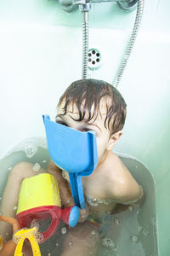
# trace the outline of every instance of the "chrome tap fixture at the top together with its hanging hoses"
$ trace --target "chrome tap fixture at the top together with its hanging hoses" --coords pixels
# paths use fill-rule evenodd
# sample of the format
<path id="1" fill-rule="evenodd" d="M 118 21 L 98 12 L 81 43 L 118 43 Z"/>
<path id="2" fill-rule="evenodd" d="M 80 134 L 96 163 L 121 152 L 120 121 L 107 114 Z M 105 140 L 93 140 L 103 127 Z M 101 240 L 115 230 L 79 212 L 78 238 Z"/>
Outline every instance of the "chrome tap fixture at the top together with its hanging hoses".
<path id="1" fill-rule="evenodd" d="M 82 79 L 88 78 L 88 15 L 91 3 L 116 2 L 118 6 L 129 12 L 137 8 L 136 19 L 133 26 L 133 32 L 127 44 L 127 49 L 122 57 L 121 65 L 116 73 L 113 85 L 118 86 L 122 79 L 122 73 L 127 66 L 127 60 L 131 55 L 133 45 L 139 32 L 139 26 L 142 20 L 144 10 L 144 0 L 59 0 L 60 6 L 67 12 L 82 11 Z"/>

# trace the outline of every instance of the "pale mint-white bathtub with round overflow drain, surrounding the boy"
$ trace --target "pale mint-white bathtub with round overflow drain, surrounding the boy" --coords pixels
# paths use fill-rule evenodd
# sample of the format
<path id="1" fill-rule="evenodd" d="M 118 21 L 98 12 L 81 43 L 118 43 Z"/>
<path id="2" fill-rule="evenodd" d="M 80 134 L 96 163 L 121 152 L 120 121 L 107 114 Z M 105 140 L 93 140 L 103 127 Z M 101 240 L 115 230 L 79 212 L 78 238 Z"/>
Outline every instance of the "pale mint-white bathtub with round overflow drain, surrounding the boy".
<path id="1" fill-rule="evenodd" d="M 169 8 L 167 1 L 145 0 L 139 36 L 118 86 L 127 102 L 127 120 L 122 138 L 114 148 L 127 166 L 133 165 L 131 171 L 137 179 L 147 182 L 147 178 L 136 173 L 135 166 L 150 177 L 152 189 L 148 198 L 153 213 L 156 212 L 150 220 L 154 256 L 157 250 L 159 256 L 168 256 L 170 252 Z M 89 71 L 89 78 L 113 82 L 134 18 L 135 12 L 124 13 L 115 3 L 92 6 L 89 48 L 99 49 L 101 67 Z M 65 13 L 55 1 L 6 1 L 0 3 L 0 38 L 2 195 L 7 174 L 15 163 L 25 157 L 33 162 L 41 157 L 41 151 L 38 159 L 26 152 L 43 148 L 47 158 L 43 164 L 48 163 L 42 113 L 54 119 L 59 96 L 72 81 L 81 79 L 81 14 Z M 147 212 L 147 208 L 148 201 L 141 212 Z M 146 233 L 147 241 L 150 233 Z M 142 253 L 151 255 L 150 251 Z"/>

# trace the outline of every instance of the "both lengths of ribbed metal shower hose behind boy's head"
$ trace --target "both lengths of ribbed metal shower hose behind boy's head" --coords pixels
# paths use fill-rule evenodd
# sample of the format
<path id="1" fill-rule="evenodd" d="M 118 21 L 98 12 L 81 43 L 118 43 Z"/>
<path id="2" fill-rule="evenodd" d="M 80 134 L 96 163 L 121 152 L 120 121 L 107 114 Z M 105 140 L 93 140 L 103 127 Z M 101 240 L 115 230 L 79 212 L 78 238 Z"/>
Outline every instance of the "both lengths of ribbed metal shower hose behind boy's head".
<path id="1" fill-rule="evenodd" d="M 144 11 L 144 0 L 138 0 L 136 18 L 134 21 L 133 32 L 127 44 L 127 49 L 122 57 L 122 62 L 118 71 L 116 73 L 116 78 L 114 79 L 113 85 L 118 86 L 120 80 L 122 79 L 122 74 L 125 67 L 127 66 L 127 60 L 131 55 L 133 45 L 137 38 L 139 32 L 139 26 L 142 20 L 142 15 Z M 82 79 L 88 79 L 88 10 L 82 9 Z"/>

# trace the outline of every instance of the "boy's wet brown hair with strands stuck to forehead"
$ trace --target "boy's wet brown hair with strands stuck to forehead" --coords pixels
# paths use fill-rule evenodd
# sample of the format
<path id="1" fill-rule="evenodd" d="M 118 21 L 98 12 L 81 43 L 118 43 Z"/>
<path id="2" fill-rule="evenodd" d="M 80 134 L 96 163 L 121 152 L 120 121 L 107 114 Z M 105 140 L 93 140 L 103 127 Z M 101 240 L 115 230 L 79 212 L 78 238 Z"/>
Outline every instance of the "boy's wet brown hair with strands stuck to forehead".
<path id="1" fill-rule="evenodd" d="M 77 80 L 65 90 L 59 99 L 58 106 L 65 101 L 62 114 L 65 115 L 70 103 L 72 106 L 76 104 L 79 118 L 74 120 L 89 122 L 94 117 L 97 118 L 100 113 L 99 102 L 105 96 L 107 99 L 111 99 L 111 101 L 106 101 L 105 128 L 110 129 L 112 135 L 122 130 L 126 119 L 127 104 L 120 92 L 111 84 L 97 79 Z M 92 106 L 94 107 L 93 113 Z M 87 111 L 88 119 L 85 119 Z"/>

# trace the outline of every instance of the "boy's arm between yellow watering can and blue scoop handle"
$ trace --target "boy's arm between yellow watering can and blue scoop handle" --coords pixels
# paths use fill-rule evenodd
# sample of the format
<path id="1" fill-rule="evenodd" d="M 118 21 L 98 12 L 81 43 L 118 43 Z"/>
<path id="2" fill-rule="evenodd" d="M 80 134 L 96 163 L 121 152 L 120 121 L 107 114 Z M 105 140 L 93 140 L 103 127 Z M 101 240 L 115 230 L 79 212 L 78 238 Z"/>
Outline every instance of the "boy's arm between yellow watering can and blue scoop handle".
<path id="1" fill-rule="evenodd" d="M 65 181 L 64 177 L 62 177 L 62 170 L 54 164 L 53 160 L 50 160 L 48 164 L 48 173 L 52 174 L 57 180 L 62 207 L 74 206 L 71 191 L 68 187 L 69 184 Z"/>

